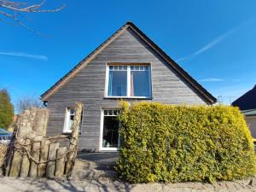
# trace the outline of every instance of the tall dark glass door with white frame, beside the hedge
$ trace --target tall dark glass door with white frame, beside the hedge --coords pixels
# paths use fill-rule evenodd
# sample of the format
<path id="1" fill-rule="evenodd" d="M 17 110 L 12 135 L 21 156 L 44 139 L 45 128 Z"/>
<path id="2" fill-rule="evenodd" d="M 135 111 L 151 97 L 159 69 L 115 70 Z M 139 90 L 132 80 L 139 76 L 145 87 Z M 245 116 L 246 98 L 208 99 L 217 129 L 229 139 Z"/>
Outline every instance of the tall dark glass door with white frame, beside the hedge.
<path id="1" fill-rule="evenodd" d="M 117 150 L 119 148 L 119 109 L 102 110 L 101 149 Z"/>

